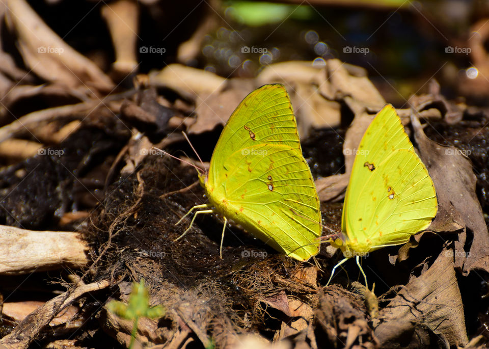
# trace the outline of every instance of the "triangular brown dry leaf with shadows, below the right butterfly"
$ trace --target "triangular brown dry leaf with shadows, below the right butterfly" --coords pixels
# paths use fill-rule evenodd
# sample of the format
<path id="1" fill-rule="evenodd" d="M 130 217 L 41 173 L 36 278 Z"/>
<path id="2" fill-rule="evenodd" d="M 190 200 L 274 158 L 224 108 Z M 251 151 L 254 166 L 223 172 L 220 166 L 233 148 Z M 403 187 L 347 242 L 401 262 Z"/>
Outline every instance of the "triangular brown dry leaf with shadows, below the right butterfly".
<path id="1" fill-rule="evenodd" d="M 429 269 L 410 281 L 383 309 L 375 337 L 381 347 L 463 346 L 464 306 L 453 262 L 444 250 Z M 440 277 L 443 275 L 443 277 Z"/>

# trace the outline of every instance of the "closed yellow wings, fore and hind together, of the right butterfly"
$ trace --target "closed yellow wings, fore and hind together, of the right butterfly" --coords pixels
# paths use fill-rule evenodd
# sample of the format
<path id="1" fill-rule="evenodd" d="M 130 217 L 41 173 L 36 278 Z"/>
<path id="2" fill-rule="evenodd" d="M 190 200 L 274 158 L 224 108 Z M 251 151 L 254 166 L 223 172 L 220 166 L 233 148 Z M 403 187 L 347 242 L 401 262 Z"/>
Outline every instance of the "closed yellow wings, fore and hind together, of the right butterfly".
<path id="1" fill-rule="evenodd" d="M 377 114 L 360 142 L 343 205 L 343 231 L 356 252 L 399 245 L 425 229 L 438 201 L 395 109 Z"/>

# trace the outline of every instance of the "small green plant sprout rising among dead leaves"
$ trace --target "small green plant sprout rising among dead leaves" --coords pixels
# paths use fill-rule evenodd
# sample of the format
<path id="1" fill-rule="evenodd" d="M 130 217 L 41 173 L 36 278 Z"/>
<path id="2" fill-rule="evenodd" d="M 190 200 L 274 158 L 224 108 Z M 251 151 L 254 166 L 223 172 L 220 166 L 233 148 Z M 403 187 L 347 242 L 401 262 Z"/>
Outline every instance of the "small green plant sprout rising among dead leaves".
<path id="1" fill-rule="evenodd" d="M 139 318 L 148 317 L 153 319 L 161 317 L 165 313 L 165 308 L 162 305 L 150 307 L 148 303 L 148 289 L 144 286 L 144 280 L 141 279 L 139 283 L 132 284 L 132 291 L 127 304 L 120 301 L 111 301 L 107 304 L 108 311 L 124 319 L 134 320 L 129 349 L 132 348 L 136 338 Z"/>

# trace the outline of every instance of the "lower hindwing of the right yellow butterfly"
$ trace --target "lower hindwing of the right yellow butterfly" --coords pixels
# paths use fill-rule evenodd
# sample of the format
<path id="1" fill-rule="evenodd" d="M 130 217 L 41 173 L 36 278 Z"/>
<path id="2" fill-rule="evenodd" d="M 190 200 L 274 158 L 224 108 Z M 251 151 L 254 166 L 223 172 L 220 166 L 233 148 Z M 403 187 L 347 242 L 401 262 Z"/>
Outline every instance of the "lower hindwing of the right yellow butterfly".
<path id="1" fill-rule="evenodd" d="M 375 174 L 374 174 L 375 173 Z M 349 226 L 359 244 L 398 245 L 426 229 L 437 212 L 431 178 L 418 155 L 398 149 L 365 174 Z"/>

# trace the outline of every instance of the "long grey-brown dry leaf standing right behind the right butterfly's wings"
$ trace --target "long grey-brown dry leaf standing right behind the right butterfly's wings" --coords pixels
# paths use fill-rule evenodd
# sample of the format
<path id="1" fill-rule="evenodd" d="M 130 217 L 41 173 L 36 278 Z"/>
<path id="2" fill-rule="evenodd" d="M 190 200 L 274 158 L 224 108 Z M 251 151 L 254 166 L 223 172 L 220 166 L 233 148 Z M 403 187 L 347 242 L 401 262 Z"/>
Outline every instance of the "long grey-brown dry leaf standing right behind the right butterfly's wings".
<path id="1" fill-rule="evenodd" d="M 472 163 L 454 147 L 443 147 L 429 140 L 419 120 L 411 123 L 420 156 L 433 179 L 438 196 L 437 217 L 428 227 L 435 232 L 460 230 L 455 241 L 455 267 L 465 275 L 472 269 L 489 272 L 489 233 L 480 202 L 475 194 L 476 176 Z M 472 232 L 473 236 L 468 235 Z M 470 238 L 470 251 L 464 250 Z"/>

